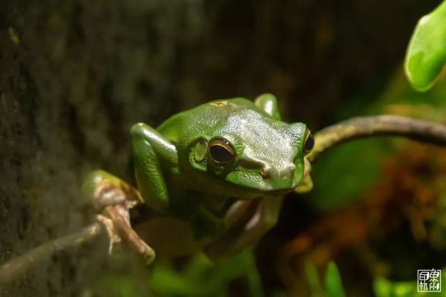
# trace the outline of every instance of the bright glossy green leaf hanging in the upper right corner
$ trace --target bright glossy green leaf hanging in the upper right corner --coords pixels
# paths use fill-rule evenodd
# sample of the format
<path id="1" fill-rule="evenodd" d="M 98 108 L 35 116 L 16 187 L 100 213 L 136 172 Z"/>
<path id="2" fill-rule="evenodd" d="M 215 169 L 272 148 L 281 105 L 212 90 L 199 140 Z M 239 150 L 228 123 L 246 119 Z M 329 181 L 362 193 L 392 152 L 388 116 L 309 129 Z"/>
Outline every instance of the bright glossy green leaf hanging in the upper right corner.
<path id="1" fill-rule="evenodd" d="M 446 63 L 446 1 L 418 21 L 410 39 L 404 70 L 417 91 L 433 86 Z"/>

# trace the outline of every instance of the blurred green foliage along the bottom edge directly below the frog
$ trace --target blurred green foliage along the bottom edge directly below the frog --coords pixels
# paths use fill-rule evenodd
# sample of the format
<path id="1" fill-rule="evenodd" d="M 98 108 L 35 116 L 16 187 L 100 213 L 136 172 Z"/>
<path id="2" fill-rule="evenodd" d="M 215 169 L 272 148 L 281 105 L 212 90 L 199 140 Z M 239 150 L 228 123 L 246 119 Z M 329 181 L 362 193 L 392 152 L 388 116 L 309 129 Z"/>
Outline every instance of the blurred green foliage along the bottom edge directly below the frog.
<path id="1" fill-rule="evenodd" d="M 107 296 L 237 296 L 237 290 L 249 296 L 263 296 L 263 289 L 252 250 L 220 264 L 211 263 L 203 254 L 175 267 L 166 260 L 157 261 L 154 270 L 144 275 L 109 274 L 102 279 L 101 290 Z M 151 288 L 151 291 L 147 291 Z"/>

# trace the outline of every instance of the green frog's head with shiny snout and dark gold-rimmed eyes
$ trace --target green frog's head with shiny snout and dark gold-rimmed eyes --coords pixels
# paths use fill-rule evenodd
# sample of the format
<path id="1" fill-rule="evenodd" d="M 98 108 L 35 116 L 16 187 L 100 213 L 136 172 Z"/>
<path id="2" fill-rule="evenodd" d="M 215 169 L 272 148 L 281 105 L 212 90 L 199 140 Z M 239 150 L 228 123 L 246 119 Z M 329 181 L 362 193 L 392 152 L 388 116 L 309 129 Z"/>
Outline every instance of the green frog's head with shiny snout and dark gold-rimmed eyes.
<path id="1" fill-rule="evenodd" d="M 263 195 L 284 195 L 302 181 L 303 158 L 314 146 L 304 123 L 288 124 L 244 110 L 212 130 L 192 146 L 190 161 L 196 169 Z"/>

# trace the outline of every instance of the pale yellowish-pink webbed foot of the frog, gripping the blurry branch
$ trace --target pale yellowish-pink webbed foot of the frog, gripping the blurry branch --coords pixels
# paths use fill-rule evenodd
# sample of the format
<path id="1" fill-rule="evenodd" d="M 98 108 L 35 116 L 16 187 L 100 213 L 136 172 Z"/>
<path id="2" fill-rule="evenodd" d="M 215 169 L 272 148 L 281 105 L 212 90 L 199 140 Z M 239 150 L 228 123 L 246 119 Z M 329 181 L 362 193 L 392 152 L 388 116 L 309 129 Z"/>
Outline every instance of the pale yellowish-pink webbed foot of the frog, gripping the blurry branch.
<path id="1" fill-rule="evenodd" d="M 155 252 L 147 245 L 130 224 L 130 209 L 142 203 L 139 191 L 121 179 L 103 171 L 92 172 L 84 183 L 84 191 L 93 207 L 102 214 L 96 219 L 104 224 L 109 236 L 109 253 L 116 243 L 125 241 L 143 255 L 146 264 L 155 259 Z"/>

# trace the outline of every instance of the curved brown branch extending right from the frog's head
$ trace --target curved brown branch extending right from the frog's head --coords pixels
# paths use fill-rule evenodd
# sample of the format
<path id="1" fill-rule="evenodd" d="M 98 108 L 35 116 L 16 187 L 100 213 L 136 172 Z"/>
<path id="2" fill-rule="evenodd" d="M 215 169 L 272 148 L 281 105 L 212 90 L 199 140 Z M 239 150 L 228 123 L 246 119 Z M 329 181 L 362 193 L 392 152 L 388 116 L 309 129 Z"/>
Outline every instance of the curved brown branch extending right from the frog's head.
<path id="1" fill-rule="evenodd" d="M 403 136 L 420 142 L 446 146 L 446 125 L 406 116 L 361 116 L 330 125 L 316 132 L 315 146 L 307 158 L 314 161 L 328 148 L 351 139 L 378 135 Z"/>

